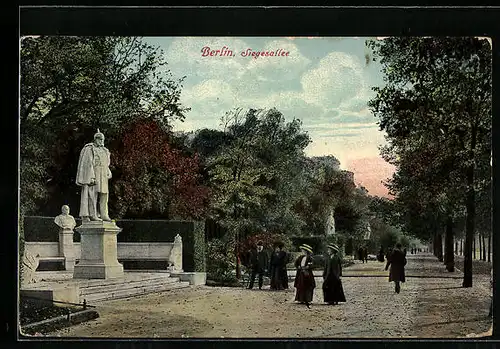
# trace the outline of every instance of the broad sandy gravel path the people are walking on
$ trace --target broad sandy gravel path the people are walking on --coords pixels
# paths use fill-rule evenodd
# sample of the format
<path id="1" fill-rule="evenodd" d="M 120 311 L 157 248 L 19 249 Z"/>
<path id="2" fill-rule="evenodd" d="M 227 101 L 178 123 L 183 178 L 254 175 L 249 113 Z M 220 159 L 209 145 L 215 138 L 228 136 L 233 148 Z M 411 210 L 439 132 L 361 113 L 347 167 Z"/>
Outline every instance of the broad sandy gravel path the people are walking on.
<path id="1" fill-rule="evenodd" d="M 344 270 L 347 302 L 337 306 L 322 303 L 321 278 L 311 309 L 293 302 L 293 284 L 277 292 L 198 286 L 98 303 L 98 319 L 51 336 L 456 338 L 488 330 L 488 277 L 462 288 L 461 273 L 446 272 L 435 257 L 408 260 L 400 294 L 383 263 L 357 262 Z"/>

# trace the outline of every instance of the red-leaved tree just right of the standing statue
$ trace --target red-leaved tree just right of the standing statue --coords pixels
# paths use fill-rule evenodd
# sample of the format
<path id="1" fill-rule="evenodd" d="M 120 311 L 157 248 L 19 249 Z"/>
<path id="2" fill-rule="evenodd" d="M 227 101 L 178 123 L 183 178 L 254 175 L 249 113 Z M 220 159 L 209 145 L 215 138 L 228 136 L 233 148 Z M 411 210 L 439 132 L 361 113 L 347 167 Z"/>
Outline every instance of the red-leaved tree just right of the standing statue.
<path id="1" fill-rule="evenodd" d="M 198 155 L 175 149 L 171 134 L 154 120 L 126 128 L 112 154 L 118 217 L 201 219 L 209 188 L 202 183 Z"/>

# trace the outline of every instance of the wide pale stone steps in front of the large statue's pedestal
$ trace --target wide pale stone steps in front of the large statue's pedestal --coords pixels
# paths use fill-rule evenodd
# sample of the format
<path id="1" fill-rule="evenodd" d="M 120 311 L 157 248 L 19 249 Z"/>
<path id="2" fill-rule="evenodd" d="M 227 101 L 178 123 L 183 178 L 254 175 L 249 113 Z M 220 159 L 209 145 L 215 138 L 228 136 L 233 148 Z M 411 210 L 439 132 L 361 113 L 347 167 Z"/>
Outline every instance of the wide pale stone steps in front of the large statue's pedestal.
<path id="1" fill-rule="evenodd" d="M 80 299 L 82 302 L 85 299 L 88 304 L 92 304 L 96 301 L 135 297 L 185 287 L 189 287 L 189 282 L 181 282 L 179 278 L 156 278 L 155 280 L 81 288 Z"/>

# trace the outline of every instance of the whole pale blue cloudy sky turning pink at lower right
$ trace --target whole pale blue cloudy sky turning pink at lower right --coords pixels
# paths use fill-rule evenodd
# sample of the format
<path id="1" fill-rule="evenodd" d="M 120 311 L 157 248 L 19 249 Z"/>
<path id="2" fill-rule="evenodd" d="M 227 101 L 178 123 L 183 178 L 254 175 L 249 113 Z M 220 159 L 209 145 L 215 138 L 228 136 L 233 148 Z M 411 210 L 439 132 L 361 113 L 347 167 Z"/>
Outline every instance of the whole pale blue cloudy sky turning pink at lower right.
<path id="1" fill-rule="evenodd" d="M 379 155 L 384 133 L 367 106 L 374 96 L 371 87 L 382 86 L 383 76 L 378 62 L 367 64 L 366 39 L 150 37 L 145 41 L 163 50 L 175 78 L 185 76 L 181 103 L 191 110 L 184 122 L 174 123 L 174 130 L 220 129 L 221 117 L 235 107 L 275 107 L 287 121 L 302 121 L 312 140 L 305 149 L 307 156 L 335 156 L 342 169 L 354 172 L 356 184 L 371 195 L 386 196 L 381 182 L 393 168 Z M 262 51 L 274 54 L 242 55 Z"/>

